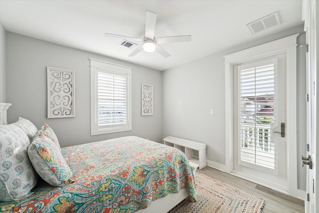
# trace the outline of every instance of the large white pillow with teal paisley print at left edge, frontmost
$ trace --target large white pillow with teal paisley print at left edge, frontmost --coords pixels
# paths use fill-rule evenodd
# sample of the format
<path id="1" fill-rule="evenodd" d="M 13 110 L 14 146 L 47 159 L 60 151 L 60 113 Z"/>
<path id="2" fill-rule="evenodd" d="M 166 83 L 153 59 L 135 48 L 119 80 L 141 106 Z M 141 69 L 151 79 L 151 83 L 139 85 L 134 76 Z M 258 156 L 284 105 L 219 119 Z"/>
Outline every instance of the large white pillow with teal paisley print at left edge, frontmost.
<path id="1" fill-rule="evenodd" d="M 16 125 L 0 125 L 0 201 L 26 198 L 36 185 L 37 174 L 29 157 L 30 141 Z"/>

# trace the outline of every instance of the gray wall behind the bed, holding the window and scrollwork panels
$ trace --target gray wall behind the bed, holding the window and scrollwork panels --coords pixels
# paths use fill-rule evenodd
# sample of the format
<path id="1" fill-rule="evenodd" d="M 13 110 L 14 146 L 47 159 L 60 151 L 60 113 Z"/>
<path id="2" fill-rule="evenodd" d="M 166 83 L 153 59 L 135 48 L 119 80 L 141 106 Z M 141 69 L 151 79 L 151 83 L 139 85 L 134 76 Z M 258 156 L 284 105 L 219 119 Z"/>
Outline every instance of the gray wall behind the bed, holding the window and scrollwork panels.
<path id="1" fill-rule="evenodd" d="M 133 67 L 132 131 L 91 136 L 90 57 Z M 76 117 L 47 119 L 47 66 L 75 70 Z M 153 116 L 141 116 L 141 83 L 154 85 Z M 61 147 L 129 135 L 160 142 L 161 85 L 160 71 L 6 32 L 6 101 L 12 103 L 8 123 L 23 117 L 40 128 L 46 122 L 57 134 Z"/>

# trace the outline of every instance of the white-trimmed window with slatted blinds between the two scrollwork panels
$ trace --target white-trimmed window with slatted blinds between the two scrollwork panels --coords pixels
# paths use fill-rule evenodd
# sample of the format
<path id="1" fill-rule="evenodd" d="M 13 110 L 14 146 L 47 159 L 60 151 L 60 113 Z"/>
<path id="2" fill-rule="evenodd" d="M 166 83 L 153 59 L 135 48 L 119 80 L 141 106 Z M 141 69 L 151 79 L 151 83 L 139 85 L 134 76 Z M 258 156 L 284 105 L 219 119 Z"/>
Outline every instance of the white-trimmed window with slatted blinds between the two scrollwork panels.
<path id="1" fill-rule="evenodd" d="M 91 135 L 132 130 L 132 68 L 91 60 Z"/>

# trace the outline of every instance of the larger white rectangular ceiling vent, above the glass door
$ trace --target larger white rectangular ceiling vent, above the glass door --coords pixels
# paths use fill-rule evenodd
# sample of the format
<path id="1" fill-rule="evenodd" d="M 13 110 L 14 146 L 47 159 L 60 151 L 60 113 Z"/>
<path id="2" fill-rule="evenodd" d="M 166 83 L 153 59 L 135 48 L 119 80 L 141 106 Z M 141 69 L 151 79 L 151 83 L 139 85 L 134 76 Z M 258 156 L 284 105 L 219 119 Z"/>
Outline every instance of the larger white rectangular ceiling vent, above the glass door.
<path id="1" fill-rule="evenodd" d="M 267 29 L 269 27 L 281 24 L 279 11 L 266 15 L 265 17 L 259 18 L 253 22 L 247 24 L 250 31 L 255 34 L 259 31 Z"/>

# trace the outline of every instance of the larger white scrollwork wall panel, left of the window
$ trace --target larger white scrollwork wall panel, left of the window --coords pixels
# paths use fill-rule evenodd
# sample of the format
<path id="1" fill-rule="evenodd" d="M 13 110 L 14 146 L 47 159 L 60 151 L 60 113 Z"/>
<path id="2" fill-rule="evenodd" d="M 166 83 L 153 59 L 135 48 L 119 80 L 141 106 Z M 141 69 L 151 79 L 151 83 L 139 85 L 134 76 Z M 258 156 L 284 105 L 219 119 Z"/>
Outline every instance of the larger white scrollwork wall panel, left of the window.
<path id="1" fill-rule="evenodd" d="M 74 70 L 47 67 L 48 118 L 75 117 Z"/>

